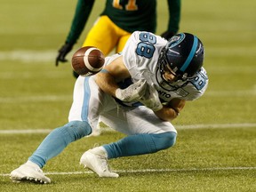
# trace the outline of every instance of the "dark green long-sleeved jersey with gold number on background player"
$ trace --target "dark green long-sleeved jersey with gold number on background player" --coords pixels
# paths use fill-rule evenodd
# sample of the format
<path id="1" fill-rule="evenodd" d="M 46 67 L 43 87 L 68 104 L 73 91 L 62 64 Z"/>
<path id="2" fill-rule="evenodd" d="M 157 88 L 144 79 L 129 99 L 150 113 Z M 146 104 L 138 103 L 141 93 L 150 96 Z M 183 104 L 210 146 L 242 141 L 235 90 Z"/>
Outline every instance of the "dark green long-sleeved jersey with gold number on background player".
<path id="1" fill-rule="evenodd" d="M 167 0 L 168 31 L 176 33 L 180 23 L 180 0 Z M 75 44 L 92 11 L 94 0 L 78 0 L 67 43 Z M 100 15 L 107 15 L 116 26 L 132 33 L 135 30 L 156 32 L 156 0 L 106 0 Z"/>

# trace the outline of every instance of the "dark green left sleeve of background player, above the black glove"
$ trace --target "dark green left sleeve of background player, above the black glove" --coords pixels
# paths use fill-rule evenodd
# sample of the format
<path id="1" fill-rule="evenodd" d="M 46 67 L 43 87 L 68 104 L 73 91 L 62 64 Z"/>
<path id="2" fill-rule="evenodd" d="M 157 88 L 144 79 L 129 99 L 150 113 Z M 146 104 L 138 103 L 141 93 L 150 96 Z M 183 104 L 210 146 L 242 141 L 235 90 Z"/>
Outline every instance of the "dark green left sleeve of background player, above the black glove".
<path id="1" fill-rule="evenodd" d="M 76 41 L 83 32 L 86 21 L 90 16 L 93 4 L 94 0 L 77 1 L 76 12 L 66 39 L 66 43 L 76 44 Z"/>

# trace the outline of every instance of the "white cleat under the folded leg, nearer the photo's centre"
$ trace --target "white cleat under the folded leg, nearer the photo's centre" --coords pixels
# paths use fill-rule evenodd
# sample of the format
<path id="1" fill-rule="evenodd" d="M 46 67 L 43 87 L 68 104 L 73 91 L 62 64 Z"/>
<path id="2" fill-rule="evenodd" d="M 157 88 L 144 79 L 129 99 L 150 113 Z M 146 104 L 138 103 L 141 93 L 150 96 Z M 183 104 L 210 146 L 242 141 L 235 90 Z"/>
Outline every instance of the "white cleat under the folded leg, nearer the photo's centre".
<path id="1" fill-rule="evenodd" d="M 84 164 L 84 167 L 88 167 L 100 177 L 119 177 L 116 172 L 110 172 L 108 170 L 107 152 L 102 147 L 92 148 L 86 151 L 81 156 L 80 164 Z"/>

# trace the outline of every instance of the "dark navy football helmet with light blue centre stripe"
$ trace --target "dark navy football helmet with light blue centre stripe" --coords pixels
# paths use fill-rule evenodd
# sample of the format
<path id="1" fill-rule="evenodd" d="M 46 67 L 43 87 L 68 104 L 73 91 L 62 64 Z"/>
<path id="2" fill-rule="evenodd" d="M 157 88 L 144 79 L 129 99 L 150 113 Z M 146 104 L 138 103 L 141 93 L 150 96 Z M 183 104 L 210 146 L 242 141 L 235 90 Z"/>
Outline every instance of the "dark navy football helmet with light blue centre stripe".
<path id="1" fill-rule="evenodd" d="M 204 45 L 200 39 L 189 33 L 180 33 L 172 36 L 165 45 L 157 65 L 162 77 L 164 68 L 168 65 L 178 77 L 177 81 L 186 81 L 188 78 L 193 78 L 202 68 L 203 61 Z"/>

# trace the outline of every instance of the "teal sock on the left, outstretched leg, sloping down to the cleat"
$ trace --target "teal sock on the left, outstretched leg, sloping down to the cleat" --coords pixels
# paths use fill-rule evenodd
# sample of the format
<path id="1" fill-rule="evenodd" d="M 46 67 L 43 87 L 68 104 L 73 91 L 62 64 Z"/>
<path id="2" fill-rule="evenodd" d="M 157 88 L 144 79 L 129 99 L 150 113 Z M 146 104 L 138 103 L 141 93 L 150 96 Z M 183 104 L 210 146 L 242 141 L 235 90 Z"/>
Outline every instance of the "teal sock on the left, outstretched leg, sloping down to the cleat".
<path id="1" fill-rule="evenodd" d="M 87 122 L 69 122 L 50 132 L 28 160 L 42 168 L 49 159 L 58 156 L 69 143 L 79 140 L 91 132 L 92 128 Z"/>

